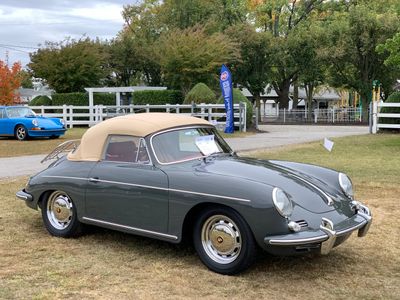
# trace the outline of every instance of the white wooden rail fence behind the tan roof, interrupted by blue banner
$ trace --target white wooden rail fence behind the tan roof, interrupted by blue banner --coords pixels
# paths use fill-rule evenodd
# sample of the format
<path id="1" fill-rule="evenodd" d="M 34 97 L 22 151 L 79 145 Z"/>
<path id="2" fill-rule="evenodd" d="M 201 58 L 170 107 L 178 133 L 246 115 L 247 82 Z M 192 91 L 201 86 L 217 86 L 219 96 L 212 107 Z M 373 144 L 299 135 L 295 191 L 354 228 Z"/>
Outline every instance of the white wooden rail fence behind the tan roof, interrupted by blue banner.
<path id="1" fill-rule="evenodd" d="M 105 119 L 119 115 L 143 112 L 167 112 L 191 115 L 207 119 L 217 128 L 225 125 L 224 104 L 166 104 L 166 105 L 122 105 L 122 106 L 31 106 L 36 113 L 46 117 L 61 118 L 72 128 L 75 125 L 93 126 Z M 234 104 L 234 123 L 240 131 L 246 131 L 246 105 Z"/>

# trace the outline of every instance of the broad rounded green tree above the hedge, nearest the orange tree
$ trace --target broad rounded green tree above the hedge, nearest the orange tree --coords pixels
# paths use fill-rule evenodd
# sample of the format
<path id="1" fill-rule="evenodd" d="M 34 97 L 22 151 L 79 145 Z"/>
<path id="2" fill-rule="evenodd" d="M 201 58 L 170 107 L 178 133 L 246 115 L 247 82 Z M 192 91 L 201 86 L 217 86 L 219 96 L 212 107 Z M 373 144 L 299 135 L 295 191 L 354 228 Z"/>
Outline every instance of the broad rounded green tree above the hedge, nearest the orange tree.
<path id="1" fill-rule="evenodd" d="M 107 75 L 104 45 L 89 38 L 46 42 L 30 55 L 29 69 L 58 93 L 80 92 L 99 86 Z"/>

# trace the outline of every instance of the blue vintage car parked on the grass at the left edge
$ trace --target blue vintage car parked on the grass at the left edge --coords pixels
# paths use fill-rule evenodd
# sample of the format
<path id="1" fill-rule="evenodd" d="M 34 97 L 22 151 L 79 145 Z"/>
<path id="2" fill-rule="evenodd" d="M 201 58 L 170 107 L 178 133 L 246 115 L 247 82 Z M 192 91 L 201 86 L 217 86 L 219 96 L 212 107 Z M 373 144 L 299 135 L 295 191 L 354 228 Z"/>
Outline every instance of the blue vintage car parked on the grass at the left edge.
<path id="1" fill-rule="evenodd" d="M 59 138 L 66 131 L 64 120 L 38 116 L 27 106 L 0 106 L 0 136 Z"/>

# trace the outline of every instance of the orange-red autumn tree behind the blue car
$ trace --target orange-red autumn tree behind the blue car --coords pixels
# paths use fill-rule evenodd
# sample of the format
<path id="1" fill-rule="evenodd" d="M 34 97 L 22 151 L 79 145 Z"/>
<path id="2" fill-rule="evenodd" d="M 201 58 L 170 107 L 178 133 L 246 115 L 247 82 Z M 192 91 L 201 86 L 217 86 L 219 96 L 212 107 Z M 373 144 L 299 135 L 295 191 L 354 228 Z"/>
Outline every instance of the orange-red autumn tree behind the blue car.
<path id="1" fill-rule="evenodd" d="M 12 105 L 20 102 L 16 90 L 21 86 L 21 64 L 16 62 L 9 68 L 0 60 L 0 105 Z"/>

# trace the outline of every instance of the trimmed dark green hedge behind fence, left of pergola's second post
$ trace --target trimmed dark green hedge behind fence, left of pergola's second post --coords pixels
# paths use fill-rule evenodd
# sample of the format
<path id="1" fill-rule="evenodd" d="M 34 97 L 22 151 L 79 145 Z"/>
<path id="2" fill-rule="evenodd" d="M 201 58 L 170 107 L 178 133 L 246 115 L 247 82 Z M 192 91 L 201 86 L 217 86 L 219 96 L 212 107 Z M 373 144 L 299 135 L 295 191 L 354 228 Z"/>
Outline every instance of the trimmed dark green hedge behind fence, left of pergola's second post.
<path id="1" fill-rule="evenodd" d="M 88 93 L 59 93 L 53 96 L 53 106 L 60 105 L 76 105 L 76 106 L 88 106 L 89 105 L 89 94 Z M 94 93 L 93 94 L 94 105 L 115 105 L 115 94 L 108 93 Z"/>

